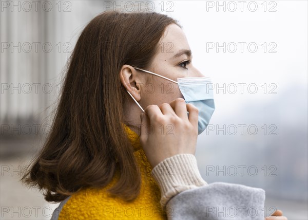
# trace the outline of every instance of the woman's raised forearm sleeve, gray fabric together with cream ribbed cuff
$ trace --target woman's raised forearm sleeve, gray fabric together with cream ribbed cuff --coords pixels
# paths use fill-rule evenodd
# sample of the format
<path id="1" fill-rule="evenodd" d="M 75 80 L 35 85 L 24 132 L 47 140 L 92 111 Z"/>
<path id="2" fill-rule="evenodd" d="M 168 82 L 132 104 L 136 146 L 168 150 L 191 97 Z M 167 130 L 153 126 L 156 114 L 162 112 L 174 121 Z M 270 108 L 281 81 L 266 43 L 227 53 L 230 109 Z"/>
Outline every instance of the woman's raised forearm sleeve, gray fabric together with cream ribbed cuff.
<path id="1" fill-rule="evenodd" d="M 265 191 L 226 182 L 207 182 L 192 154 L 177 154 L 151 172 L 161 189 L 168 219 L 263 219 Z"/>

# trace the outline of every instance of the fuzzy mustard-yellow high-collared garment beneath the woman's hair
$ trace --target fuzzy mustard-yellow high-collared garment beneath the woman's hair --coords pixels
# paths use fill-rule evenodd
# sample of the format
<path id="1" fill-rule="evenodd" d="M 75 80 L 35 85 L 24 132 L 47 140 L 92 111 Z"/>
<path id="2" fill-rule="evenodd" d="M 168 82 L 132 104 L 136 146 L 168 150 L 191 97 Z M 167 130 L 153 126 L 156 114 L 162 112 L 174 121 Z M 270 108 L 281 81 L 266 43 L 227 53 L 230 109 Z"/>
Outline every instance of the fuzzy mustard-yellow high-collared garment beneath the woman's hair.
<path id="1" fill-rule="evenodd" d="M 141 190 L 139 196 L 127 203 L 121 198 L 110 197 L 106 189 L 117 180 L 102 189 L 88 188 L 76 192 L 68 199 L 59 215 L 62 219 L 167 219 L 163 212 L 159 185 L 151 176 L 150 166 L 140 145 L 138 134 L 125 125 L 128 137 L 135 150 L 138 168 L 141 169 Z"/>

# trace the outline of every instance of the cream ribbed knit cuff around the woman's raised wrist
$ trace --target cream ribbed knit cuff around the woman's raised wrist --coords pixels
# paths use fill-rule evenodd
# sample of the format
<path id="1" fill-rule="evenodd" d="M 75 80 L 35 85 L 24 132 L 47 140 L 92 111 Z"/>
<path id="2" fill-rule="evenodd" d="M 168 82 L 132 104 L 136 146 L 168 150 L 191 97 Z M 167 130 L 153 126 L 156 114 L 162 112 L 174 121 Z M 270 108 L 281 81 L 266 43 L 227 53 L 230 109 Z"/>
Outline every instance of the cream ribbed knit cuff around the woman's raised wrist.
<path id="1" fill-rule="evenodd" d="M 201 177 L 193 154 L 177 154 L 161 161 L 151 171 L 161 189 L 161 206 L 178 193 L 207 185 Z"/>

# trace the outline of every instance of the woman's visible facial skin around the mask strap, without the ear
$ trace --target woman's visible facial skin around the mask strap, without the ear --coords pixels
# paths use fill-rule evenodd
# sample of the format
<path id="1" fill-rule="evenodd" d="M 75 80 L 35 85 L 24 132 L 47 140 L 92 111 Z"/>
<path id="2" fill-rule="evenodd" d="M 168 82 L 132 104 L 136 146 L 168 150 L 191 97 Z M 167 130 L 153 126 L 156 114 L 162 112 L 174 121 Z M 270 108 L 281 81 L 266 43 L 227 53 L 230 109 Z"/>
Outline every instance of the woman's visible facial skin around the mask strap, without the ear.
<path id="1" fill-rule="evenodd" d="M 177 81 L 182 77 L 204 77 L 191 62 L 191 51 L 183 30 L 171 24 L 167 26 L 160 41 L 158 52 L 153 58 L 150 69 L 160 76 Z M 170 103 L 177 98 L 184 98 L 178 84 L 161 77 L 137 70 L 146 76 L 145 85 L 141 86 L 140 104 L 143 109 L 150 105 Z"/>

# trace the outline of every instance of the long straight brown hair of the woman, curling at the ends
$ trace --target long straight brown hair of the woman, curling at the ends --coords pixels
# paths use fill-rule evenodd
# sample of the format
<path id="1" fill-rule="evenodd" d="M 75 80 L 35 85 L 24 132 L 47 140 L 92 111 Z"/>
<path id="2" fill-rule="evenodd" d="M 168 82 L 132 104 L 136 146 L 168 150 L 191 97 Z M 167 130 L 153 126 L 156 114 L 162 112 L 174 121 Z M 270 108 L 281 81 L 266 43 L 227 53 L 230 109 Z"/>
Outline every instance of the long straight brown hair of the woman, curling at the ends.
<path id="1" fill-rule="evenodd" d="M 124 64 L 147 69 L 172 23 L 181 27 L 160 13 L 119 11 L 90 21 L 68 60 L 49 136 L 22 177 L 24 184 L 59 202 L 83 188 L 106 186 L 119 170 L 108 191 L 126 201 L 138 196 L 140 173 L 122 125 L 129 125 L 123 103 L 130 97 L 119 73 Z"/>

